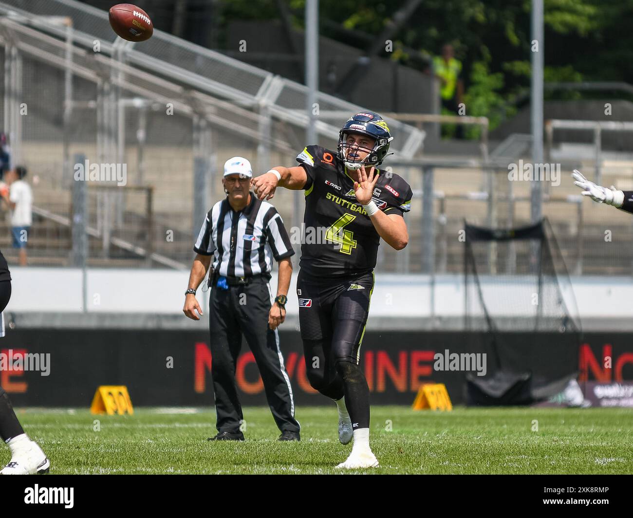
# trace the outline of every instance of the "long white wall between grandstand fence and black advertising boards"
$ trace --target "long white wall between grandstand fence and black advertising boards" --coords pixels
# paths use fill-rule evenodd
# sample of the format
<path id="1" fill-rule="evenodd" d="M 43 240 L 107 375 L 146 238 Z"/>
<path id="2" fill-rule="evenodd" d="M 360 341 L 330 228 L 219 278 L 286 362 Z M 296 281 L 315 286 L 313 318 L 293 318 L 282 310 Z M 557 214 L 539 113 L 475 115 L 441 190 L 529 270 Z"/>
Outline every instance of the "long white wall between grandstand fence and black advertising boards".
<path id="1" fill-rule="evenodd" d="M 73 268 L 11 267 L 13 293 L 7 312 L 34 313 L 142 313 L 147 315 L 182 315 L 184 291 L 189 272 L 149 269 L 87 270 L 87 307 L 83 308 L 82 271 Z M 487 283 L 494 279 L 482 277 Z M 435 289 L 431 288 L 434 282 Z M 633 330 L 632 277 L 572 277 L 573 294 L 585 329 Z M 287 304 L 289 319 L 298 315 L 296 272 L 292 276 Z M 270 282 L 273 296 L 277 274 Z M 499 289 L 498 310 L 525 308 L 524 301 L 535 291 L 520 277 L 505 277 Z M 571 306 L 570 293 L 563 296 Z M 208 307 L 208 292 L 198 290 L 203 310 Z M 434 328 L 442 328 L 442 320 L 459 319 L 463 315 L 463 276 L 442 275 L 434 281 L 428 275 L 376 275 L 370 308 L 371 319 L 389 324 L 391 320 L 434 320 Z M 513 309 L 514 308 L 514 309 Z M 518 316 L 526 316 L 517 314 Z M 617 324 L 616 324 L 617 323 Z M 589 324 L 588 327 L 585 324 Z M 615 326 L 615 327 L 614 327 Z"/>

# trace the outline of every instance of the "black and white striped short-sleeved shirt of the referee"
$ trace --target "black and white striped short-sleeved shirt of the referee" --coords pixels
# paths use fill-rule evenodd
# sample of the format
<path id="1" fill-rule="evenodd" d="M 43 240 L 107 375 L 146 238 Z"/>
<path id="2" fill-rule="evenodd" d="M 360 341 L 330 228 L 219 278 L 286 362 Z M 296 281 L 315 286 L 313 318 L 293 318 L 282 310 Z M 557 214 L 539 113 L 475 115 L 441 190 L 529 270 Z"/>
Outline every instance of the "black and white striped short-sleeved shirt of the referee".
<path id="1" fill-rule="evenodd" d="M 213 269 L 225 277 L 270 275 L 273 256 L 279 261 L 294 255 L 277 209 L 253 193 L 251 202 L 240 212 L 232 209 L 228 198 L 213 205 L 194 251 L 215 255 Z"/>

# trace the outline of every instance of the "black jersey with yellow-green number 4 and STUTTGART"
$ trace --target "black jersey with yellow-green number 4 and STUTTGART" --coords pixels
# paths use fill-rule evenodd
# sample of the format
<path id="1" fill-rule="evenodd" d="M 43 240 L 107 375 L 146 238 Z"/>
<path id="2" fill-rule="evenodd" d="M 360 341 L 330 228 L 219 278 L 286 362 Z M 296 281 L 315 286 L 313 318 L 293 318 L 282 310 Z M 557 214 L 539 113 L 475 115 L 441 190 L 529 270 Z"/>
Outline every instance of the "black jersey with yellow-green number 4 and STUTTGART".
<path id="1" fill-rule="evenodd" d="M 373 270 L 380 236 L 365 209 L 356 203 L 358 173 L 348 170 L 336 153 L 320 146 L 307 146 L 297 161 L 308 176 L 301 270 L 313 277 L 345 277 Z M 409 184 L 391 172 L 376 172 L 379 179 L 372 198 L 378 208 L 387 214 L 409 212 Z"/>

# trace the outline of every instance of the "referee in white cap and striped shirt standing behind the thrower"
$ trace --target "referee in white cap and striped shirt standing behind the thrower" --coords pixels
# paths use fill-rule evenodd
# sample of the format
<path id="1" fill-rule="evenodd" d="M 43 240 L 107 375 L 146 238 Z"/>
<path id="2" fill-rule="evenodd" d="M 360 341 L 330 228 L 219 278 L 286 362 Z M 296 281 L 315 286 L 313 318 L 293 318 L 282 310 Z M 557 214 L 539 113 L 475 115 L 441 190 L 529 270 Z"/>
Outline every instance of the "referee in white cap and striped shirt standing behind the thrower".
<path id="1" fill-rule="evenodd" d="M 200 229 L 182 311 L 192 320 L 199 320 L 196 311 L 202 315 L 196 289 L 213 255 L 209 327 L 218 434 L 210 440 L 244 440 L 244 418 L 235 383 L 235 363 L 244 333 L 281 431 L 279 440 L 299 441 L 299 422 L 294 419 L 292 388 L 277 332 L 285 319 L 294 251 L 275 207 L 249 191 L 252 177 L 246 158 L 235 156 L 224 164 L 222 184 L 227 198 L 213 205 Z M 271 306 L 268 281 L 273 257 L 279 263 L 279 277 Z"/>

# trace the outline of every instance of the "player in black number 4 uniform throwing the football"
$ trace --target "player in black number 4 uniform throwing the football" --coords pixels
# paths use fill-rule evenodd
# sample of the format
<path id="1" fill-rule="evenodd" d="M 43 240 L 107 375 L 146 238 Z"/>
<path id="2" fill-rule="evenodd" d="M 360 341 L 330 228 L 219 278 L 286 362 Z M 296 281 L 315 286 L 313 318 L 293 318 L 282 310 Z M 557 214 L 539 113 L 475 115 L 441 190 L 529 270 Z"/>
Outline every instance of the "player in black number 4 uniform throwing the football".
<path id="1" fill-rule="evenodd" d="M 339 134 L 336 152 L 307 146 L 299 166 L 275 167 L 253 180 L 260 199 L 277 187 L 304 189 L 306 233 L 297 295 L 306 372 L 311 386 L 339 409 L 339 440 L 352 451 L 341 468 L 375 467 L 369 445 L 369 389 L 360 360 L 380 237 L 402 250 L 403 214 L 411 187 L 379 170 L 393 137 L 377 113 L 357 113 Z"/>

